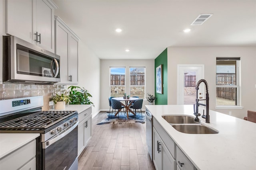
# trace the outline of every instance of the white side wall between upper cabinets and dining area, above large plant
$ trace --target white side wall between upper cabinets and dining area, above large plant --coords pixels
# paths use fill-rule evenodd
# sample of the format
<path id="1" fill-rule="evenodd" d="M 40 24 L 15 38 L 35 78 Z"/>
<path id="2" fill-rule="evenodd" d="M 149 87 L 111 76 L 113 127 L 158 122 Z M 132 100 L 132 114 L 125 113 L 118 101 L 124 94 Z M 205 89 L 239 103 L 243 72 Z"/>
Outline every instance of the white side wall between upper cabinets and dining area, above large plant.
<path id="1" fill-rule="evenodd" d="M 83 43 L 79 42 L 79 84 L 75 86 L 86 88 L 92 95 L 94 103 L 92 114 L 100 110 L 100 59 Z"/>

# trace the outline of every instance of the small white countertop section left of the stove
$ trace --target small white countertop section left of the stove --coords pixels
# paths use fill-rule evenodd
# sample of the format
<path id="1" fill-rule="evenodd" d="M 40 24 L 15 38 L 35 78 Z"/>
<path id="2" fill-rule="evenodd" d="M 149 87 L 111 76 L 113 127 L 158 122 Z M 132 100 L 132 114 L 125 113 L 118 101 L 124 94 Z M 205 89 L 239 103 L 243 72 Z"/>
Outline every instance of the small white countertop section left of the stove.
<path id="1" fill-rule="evenodd" d="M 39 137 L 39 133 L 0 133 L 0 158 Z"/>

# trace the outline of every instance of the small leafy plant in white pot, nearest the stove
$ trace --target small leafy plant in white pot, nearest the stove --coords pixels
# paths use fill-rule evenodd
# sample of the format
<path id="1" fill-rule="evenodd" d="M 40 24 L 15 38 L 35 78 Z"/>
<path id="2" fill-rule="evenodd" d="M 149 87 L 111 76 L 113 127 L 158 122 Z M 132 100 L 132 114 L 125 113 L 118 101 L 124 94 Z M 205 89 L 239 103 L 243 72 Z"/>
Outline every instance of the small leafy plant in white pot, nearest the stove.
<path id="1" fill-rule="evenodd" d="M 61 110 L 61 109 L 65 109 L 65 105 L 68 104 L 68 102 L 70 102 L 70 97 L 64 94 L 61 94 L 61 95 L 56 94 L 55 96 L 52 96 L 50 98 L 50 101 L 54 102 L 55 104 L 54 109 Z"/>

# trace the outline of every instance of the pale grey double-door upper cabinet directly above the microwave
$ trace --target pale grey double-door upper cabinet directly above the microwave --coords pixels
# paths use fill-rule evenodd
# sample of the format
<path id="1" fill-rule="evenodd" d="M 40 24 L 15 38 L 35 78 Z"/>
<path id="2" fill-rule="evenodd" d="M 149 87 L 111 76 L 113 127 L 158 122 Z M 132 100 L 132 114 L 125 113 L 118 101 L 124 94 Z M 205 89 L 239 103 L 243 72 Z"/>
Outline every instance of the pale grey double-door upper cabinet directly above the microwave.
<path id="1" fill-rule="evenodd" d="M 6 34 L 14 35 L 54 53 L 52 0 L 7 0 Z"/>

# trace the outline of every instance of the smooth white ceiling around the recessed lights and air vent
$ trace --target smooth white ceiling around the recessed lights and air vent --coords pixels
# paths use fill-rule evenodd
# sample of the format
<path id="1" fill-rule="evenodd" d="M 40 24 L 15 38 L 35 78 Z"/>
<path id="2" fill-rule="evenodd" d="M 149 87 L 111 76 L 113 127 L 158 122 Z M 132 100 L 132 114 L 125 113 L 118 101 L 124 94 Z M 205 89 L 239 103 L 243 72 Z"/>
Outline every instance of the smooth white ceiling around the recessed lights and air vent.
<path id="1" fill-rule="evenodd" d="M 256 47 L 256 0 L 54 2 L 55 15 L 100 59 L 155 59 L 167 47 Z M 213 15 L 190 25 L 200 14 Z"/>

